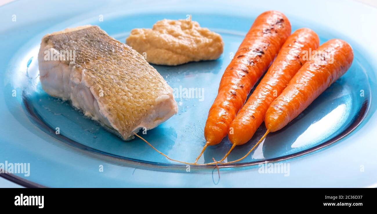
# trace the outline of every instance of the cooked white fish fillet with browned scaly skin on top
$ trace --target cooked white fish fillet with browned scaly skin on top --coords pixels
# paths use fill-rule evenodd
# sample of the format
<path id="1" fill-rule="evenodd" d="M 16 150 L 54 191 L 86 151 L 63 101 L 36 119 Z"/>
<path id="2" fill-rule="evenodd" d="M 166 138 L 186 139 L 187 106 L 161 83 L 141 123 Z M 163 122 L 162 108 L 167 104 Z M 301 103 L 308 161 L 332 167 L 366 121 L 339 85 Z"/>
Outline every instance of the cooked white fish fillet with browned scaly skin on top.
<path id="1" fill-rule="evenodd" d="M 172 88 L 156 69 L 98 26 L 44 36 L 38 64 L 46 93 L 70 100 L 124 140 L 134 138 L 133 132 L 141 128 L 158 126 L 178 111 Z"/>

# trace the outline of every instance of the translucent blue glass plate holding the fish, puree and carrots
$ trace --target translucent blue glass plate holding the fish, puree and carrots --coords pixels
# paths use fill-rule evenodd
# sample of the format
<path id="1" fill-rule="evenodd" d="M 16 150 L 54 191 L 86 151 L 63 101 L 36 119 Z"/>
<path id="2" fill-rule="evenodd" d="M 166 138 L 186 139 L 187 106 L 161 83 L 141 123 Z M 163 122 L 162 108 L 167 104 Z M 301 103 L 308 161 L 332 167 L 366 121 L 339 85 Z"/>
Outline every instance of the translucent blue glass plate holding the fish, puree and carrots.
<path id="1" fill-rule="evenodd" d="M 372 187 L 377 184 L 375 94 L 377 9 L 356 2 L 316 1 L 17 1 L 0 8 L 0 163 L 30 163 L 30 174 L 0 174 L 26 186 L 47 187 Z M 326 5 L 326 6 L 323 6 Z M 300 8 L 301 7 L 301 8 Z M 43 14 L 35 14 L 38 8 Z M 334 9 L 336 8 L 336 9 Z M 268 135 L 243 161 L 220 166 L 188 166 L 156 153 L 140 139 L 124 142 L 46 94 L 39 82 L 37 53 L 46 33 L 84 24 L 100 26 L 125 42 L 133 28 L 150 28 L 163 18 L 192 15 L 221 34 L 225 47 L 215 61 L 175 67 L 153 65 L 176 90 L 200 89 L 195 97 L 175 97 L 178 114 L 143 137 L 171 158 L 193 162 L 204 146 L 208 109 L 219 80 L 254 19 L 279 10 L 292 30 L 310 27 L 323 43 L 348 41 L 354 61 L 347 73 L 284 129 Z M 103 18 L 103 19 L 101 19 Z M 60 134 L 55 134 L 59 128 Z M 226 161 L 245 155 L 264 134 L 236 147 Z M 221 159 L 227 138 L 209 147 L 200 163 Z M 287 172 L 267 173 L 261 165 L 285 164 Z M 288 167 L 287 167 L 288 166 Z"/>

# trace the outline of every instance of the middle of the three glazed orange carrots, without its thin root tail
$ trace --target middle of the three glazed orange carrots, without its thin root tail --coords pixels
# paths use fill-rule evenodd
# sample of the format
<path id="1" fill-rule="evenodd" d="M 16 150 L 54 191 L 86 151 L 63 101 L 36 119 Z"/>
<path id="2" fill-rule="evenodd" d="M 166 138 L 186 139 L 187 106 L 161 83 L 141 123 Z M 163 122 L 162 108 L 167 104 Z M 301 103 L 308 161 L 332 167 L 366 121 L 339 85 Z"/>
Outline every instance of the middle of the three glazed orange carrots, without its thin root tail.
<path id="1" fill-rule="evenodd" d="M 305 63 L 305 53 L 316 50 L 318 46 L 318 35 L 308 28 L 298 29 L 288 37 L 275 61 L 230 124 L 228 136 L 232 144 L 241 145 L 253 137 L 264 120 L 268 106 Z"/>

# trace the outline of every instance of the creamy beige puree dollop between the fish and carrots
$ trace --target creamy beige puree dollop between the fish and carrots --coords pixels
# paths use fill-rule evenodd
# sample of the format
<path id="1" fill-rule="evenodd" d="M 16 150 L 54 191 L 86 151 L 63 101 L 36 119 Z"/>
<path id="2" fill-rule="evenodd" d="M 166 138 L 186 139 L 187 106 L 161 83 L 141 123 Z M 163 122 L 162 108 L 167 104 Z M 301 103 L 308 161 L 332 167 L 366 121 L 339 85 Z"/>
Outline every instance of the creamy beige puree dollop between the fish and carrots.
<path id="1" fill-rule="evenodd" d="M 127 45 L 158 65 L 179 65 L 190 61 L 219 58 L 224 42 L 218 33 L 200 27 L 196 21 L 156 22 L 152 29 L 133 29 Z"/>

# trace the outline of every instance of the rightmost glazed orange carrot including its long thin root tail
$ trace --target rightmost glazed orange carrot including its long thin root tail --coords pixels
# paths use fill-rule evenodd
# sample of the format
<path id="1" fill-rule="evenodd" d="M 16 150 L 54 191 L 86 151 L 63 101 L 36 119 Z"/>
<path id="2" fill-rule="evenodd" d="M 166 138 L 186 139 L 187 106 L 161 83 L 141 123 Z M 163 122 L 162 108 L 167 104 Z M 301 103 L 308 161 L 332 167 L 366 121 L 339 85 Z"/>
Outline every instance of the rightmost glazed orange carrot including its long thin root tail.
<path id="1" fill-rule="evenodd" d="M 323 43 L 293 76 L 287 87 L 268 107 L 264 121 L 266 133 L 249 150 L 235 161 L 221 163 L 230 164 L 244 159 L 262 142 L 269 132 L 275 132 L 296 118 L 323 91 L 342 76 L 352 64 L 351 46 L 341 39 L 331 39 Z"/>

